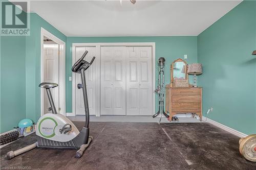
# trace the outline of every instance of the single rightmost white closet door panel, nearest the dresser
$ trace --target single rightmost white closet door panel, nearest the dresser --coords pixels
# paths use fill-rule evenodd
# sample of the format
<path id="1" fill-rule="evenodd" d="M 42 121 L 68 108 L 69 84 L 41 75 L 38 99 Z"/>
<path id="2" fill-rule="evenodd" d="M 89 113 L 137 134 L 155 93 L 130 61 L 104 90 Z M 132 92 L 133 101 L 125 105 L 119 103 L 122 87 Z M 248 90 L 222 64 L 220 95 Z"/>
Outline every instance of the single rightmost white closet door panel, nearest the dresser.
<path id="1" fill-rule="evenodd" d="M 139 114 L 152 115 L 152 47 L 139 50 Z"/>

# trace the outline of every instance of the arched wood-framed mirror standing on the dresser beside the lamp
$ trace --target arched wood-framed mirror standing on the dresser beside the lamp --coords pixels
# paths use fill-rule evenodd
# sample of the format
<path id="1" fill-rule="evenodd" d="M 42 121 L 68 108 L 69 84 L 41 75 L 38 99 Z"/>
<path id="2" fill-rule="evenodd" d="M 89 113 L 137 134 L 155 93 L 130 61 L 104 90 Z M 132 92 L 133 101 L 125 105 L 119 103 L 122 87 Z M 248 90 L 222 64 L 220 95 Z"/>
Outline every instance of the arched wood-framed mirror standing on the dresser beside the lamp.
<path id="1" fill-rule="evenodd" d="M 188 65 L 184 60 L 175 60 L 172 65 L 170 65 L 170 83 L 173 83 L 175 78 L 187 79 L 187 67 Z"/>

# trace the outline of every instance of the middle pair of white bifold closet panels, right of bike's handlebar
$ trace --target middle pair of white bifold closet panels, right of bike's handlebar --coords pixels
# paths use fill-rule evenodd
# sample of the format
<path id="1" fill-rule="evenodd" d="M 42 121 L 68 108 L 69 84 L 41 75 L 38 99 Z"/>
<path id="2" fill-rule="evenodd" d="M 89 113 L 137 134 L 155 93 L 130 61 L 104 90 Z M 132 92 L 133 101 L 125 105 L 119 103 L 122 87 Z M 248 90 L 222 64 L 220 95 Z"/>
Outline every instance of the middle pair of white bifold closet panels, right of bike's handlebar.
<path id="1" fill-rule="evenodd" d="M 101 115 L 125 115 L 125 47 L 101 47 Z"/>

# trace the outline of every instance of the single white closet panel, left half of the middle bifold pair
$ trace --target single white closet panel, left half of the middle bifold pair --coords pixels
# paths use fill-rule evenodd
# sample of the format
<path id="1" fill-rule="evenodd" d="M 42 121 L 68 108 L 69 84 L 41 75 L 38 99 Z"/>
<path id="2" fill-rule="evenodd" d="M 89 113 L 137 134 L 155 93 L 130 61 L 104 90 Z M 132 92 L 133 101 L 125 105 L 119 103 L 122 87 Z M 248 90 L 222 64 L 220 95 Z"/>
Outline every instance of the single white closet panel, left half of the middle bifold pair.
<path id="1" fill-rule="evenodd" d="M 113 114 L 113 49 L 101 47 L 100 114 Z"/>

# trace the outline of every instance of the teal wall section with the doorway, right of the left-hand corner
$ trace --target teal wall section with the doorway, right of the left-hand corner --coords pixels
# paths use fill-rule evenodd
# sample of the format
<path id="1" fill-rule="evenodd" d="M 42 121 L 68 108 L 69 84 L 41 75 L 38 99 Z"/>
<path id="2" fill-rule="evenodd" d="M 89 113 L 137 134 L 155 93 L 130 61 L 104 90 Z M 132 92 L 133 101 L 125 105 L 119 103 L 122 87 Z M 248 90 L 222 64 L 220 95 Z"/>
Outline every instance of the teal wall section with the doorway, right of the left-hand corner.
<path id="1" fill-rule="evenodd" d="M 36 13 L 30 13 L 30 36 L 26 37 L 26 116 L 33 121 L 41 115 L 41 27 L 66 42 L 67 37 Z"/>

